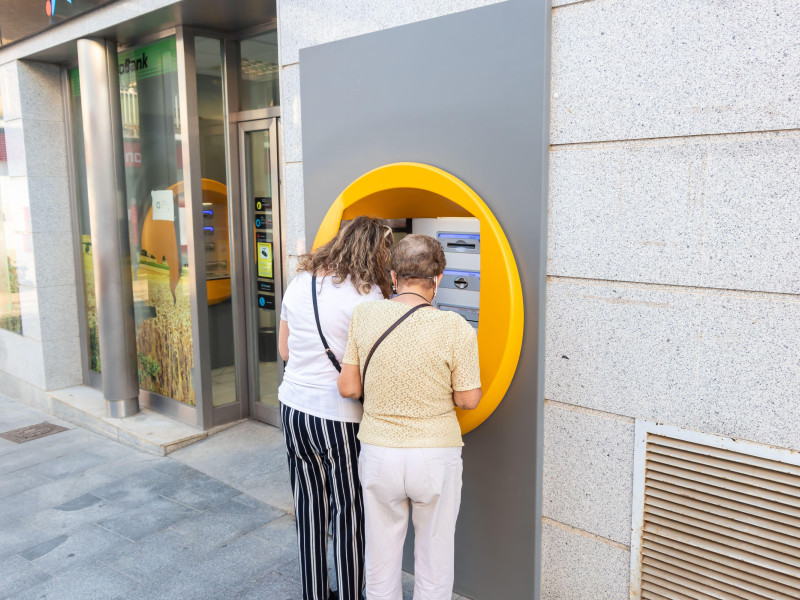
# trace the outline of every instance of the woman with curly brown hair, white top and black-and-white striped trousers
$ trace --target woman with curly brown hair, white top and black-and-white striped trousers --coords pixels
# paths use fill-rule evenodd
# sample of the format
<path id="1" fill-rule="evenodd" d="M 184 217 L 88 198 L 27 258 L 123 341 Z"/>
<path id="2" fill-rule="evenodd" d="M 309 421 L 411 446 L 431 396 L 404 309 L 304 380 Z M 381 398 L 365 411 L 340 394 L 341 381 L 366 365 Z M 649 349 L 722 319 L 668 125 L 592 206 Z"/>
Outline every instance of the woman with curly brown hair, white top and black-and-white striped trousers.
<path id="1" fill-rule="evenodd" d="M 358 477 L 362 406 L 336 387 L 353 309 L 391 293 L 391 228 L 357 217 L 300 259 L 281 307 L 278 390 L 294 494 L 303 600 L 336 598 L 328 583 L 333 523 L 340 600 L 361 600 L 364 503 Z"/>

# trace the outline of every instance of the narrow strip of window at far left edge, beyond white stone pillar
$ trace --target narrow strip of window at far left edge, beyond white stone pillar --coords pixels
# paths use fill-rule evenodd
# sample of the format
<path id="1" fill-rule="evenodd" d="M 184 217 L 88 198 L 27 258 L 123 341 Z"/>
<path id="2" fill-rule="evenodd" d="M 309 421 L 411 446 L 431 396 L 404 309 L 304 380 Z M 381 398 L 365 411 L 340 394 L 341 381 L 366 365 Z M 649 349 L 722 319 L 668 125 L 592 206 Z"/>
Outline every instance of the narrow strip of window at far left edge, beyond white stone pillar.
<path id="1" fill-rule="evenodd" d="M 23 211 L 14 203 L 6 151 L 3 99 L 0 97 L 0 328 L 22 333 L 17 248 L 24 232 Z"/>

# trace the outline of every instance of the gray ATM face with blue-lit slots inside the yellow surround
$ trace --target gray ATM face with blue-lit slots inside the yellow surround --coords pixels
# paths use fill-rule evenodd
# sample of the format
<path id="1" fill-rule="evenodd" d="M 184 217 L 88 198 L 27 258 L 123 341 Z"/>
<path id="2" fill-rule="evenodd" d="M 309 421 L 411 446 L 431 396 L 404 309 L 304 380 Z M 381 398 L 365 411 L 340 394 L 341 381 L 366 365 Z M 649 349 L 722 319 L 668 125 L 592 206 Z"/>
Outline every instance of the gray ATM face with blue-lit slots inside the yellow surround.
<path id="1" fill-rule="evenodd" d="M 481 233 L 478 219 L 412 219 L 411 232 L 439 240 L 444 249 L 447 266 L 433 305 L 440 310 L 460 314 L 477 330 L 481 297 Z"/>

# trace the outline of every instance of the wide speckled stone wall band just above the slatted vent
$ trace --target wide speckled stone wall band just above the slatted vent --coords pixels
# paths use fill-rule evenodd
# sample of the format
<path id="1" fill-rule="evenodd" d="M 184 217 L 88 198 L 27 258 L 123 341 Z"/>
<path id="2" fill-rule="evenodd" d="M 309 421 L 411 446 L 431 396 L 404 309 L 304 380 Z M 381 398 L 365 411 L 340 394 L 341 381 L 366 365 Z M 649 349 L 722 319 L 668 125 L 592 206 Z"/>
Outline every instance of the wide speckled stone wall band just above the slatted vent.
<path id="1" fill-rule="evenodd" d="M 800 299 L 551 280 L 545 397 L 800 449 Z"/>

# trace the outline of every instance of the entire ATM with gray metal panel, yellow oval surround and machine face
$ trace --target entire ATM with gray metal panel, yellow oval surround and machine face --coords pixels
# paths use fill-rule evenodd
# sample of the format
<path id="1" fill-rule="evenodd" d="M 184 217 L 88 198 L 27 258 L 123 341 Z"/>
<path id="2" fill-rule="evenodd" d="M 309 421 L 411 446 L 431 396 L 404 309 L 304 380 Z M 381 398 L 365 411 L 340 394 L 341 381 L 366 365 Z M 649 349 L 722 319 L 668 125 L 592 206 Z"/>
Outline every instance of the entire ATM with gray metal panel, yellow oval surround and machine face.
<path id="1" fill-rule="evenodd" d="M 308 246 L 358 215 L 410 219 L 446 252 L 438 307 L 478 325 L 454 590 L 475 600 L 539 598 L 550 5 L 299 50 Z"/>

